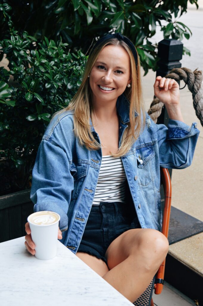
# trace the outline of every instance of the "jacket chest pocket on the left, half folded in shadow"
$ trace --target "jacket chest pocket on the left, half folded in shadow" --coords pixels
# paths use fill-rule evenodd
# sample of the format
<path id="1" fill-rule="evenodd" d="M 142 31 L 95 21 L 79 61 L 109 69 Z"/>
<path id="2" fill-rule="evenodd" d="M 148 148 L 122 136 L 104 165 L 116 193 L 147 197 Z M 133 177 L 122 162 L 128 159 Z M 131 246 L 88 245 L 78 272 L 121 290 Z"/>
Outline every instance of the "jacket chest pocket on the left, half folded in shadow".
<path id="1" fill-rule="evenodd" d="M 71 175 L 74 180 L 74 190 L 72 191 L 72 199 L 76 199 L 81 190 L 82 184 L 87 175 L 88 164 L 73 162 L 71 164 Z"/>

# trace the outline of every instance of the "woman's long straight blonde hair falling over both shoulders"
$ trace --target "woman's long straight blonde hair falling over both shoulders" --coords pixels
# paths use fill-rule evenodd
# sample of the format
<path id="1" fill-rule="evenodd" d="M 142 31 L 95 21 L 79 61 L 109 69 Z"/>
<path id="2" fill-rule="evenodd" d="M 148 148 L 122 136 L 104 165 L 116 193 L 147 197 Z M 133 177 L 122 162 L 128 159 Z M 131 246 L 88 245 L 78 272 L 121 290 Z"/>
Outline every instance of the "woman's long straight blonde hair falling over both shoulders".
<path id="1" fill-rule="evenodd" d="M 99 47 L 94 50 L 94 52 L 90 52 L 85 66 L 82 83 L 74 97 L 71 99 L 69 105 L 60 112 L 65 110 L 74 110 L 74 133 L 75 136 L 78 137 L 81 145 L 85 145 L 85 147 L 89 150 L 98 150 L 102 147 L 94 138 L 91 132 L 91 125 L 89 124 L 90 118 L 92 117 L 93 107 L 92 90 L 89 85 L 88 75 L 90 74 L 92 67 L 94 66 L 102 49 L 111 44 L 121 46 L 128 52 L 131 66 L 131 87 L 126 87 L 124 91 L 124 95 L 129 102 L 128 107 L 130 121 L 127 123 L 128 127 L 123 133 L 121 145 L 118 148 L 118 153 L 112 154 L 113 156 L 123 156 L 129 151 L 132 144 L 138 138 L 145 124 L 145 110 L 141 88 L 139 57 L 137 56 L 138 63 L 136 68 L 132 51 L 124 41 L 120 41 L 117 38 L 112 38 L 101 43 Z M 139 116 L 135 117 L 135 111 L 139 113 Z"/>

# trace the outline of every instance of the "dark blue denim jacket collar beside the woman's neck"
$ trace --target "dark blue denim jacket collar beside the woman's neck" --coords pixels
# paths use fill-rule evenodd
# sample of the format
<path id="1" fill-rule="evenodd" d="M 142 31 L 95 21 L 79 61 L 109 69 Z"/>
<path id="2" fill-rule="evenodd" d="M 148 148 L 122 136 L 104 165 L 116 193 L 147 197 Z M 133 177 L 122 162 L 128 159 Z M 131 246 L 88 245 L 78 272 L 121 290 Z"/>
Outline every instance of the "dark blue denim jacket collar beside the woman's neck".
<path id="1" fill-rule="evenodd" d="M 120 120 L 123 124 L 126 124 L 130 121 L 130 103 L 128 101 L 128 99 L 125 97 L 124 94 L 120 95 L 116 101 L 116 108 L 117 108 L 117 112 L 118 115 L 120 117 Z M 135 117 L 139 116 L 139 114 L 135 111 Z M 90 125 L 91 125 L 91 132 L 95 132 L 94 127 L 92 125 L 92 120 L 90 118 L 89 121 Z"/>

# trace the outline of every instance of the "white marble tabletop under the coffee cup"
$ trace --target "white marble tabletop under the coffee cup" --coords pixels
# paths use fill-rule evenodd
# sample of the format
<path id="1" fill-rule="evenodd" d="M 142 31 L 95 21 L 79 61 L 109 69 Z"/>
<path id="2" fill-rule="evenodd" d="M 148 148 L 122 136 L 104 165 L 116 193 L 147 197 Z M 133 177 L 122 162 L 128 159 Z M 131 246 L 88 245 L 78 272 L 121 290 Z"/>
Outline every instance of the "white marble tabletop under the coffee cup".
<path id="1" fill-rule="evenodd" d="M 29 254 L 24 241 L 0 243 L 0 305 L 132 306 L 60 241 L 49 260 Z"/>

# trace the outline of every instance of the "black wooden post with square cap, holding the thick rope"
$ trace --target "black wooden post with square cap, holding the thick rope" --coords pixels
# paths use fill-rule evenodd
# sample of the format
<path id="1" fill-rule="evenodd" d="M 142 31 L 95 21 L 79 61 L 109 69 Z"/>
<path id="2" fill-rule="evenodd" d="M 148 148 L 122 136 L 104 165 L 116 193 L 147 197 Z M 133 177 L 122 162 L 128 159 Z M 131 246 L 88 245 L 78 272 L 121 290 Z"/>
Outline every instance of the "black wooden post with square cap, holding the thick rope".
<path id="1" fill-rule="evenodd" d="M 165 76 L 173 68 L 180 68 L 181 63 L 179 62 L 183 56 L 183 43 L 176 39 L 163 39 L 158 43 L 158 70 L 156 76 Z M 161 115 L 157 119 L 157 124 L 163 123 L 168 126 L 169 116 L 163 106 Z M 172 176 L 172 169 L 169 169 L 170 177 Z M 161 203 L 163 204 L 164 200 L 164 190 L 161 186 Z M 163 207 L 162 207 L 163 211 Z"/>

